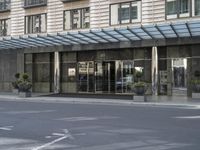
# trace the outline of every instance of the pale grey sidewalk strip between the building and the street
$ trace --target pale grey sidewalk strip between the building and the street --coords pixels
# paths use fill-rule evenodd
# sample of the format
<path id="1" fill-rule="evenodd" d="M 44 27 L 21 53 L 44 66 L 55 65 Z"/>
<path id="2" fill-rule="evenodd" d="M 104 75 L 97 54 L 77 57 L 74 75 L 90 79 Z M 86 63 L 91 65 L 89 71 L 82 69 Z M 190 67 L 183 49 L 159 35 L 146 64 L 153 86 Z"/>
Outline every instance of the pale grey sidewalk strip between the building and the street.
<path id="1" fill-rule="evenodd" d="M 13 93 L 0 93 L 0 101 L 29 101 L 29 102 L 61 102 L 61 103 L 81 103 L 81 104 L 112 104 L 112 105 L 149 105 L 149 106 L 178 106 L 194 107 L 200 109 L 200 99 L 191 100 L 185 97 L 152 96 L 148 102 L 124 99 L 99 99 L 99 98 L 74 98 L 74 97 L 53 97 L 48 93 L 32 93 L 32 97 L 20 98 Z"/>

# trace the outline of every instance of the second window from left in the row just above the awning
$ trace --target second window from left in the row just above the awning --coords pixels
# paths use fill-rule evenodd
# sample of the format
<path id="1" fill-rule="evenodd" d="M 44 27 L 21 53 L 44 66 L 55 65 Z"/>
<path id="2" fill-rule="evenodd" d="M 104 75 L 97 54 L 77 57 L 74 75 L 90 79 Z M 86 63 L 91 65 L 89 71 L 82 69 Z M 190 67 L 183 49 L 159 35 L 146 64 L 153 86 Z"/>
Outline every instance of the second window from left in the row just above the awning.
<path id="1" fill-rule="evenodd" d="M 25 17 L 25 33 L 46 32 L 46 14 Z"/>

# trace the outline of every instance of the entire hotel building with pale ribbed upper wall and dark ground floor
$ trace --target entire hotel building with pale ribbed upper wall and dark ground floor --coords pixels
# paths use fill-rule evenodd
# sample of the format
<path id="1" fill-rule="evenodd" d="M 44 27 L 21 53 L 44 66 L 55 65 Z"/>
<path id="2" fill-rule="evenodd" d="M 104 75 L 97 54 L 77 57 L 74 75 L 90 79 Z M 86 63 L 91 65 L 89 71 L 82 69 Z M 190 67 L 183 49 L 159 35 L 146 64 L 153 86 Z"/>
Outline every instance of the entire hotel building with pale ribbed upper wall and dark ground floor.
<path id="1" fill-rule="evenodd" d="M 200 0 L 0 0 L 0 91 L 191 97 L 199 65 Z"/>

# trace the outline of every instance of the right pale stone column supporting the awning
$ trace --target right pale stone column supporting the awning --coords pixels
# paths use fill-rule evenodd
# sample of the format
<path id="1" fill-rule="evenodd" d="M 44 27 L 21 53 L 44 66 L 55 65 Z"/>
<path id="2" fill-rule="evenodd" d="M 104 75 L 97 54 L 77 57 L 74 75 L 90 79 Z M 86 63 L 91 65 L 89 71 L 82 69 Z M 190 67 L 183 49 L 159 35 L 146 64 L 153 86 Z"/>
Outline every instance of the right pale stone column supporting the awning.
<path id="1" fill-rule="evenodd" d="M 157 47 L 152 47 L 152 94 L 158 95 L 158 50 Z"/>

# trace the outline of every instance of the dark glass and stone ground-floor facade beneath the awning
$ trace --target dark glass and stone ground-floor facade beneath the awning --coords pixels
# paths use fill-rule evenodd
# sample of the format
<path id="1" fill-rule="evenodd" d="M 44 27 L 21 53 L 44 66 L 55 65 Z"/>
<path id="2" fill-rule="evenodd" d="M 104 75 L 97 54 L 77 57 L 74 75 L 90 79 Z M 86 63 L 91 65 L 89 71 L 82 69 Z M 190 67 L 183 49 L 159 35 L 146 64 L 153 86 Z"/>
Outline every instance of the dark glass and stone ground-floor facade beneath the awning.
<path id="1" fill-rule="evenodd" d="M 174 43 L 1 50 L 0 91 L 11 91 L 15 73 L 27 72 L 33 92 L 132 95 L 134 72 L 141 71 L 146 94 L 191 97 L 200 43 Z"/>

